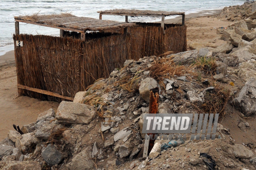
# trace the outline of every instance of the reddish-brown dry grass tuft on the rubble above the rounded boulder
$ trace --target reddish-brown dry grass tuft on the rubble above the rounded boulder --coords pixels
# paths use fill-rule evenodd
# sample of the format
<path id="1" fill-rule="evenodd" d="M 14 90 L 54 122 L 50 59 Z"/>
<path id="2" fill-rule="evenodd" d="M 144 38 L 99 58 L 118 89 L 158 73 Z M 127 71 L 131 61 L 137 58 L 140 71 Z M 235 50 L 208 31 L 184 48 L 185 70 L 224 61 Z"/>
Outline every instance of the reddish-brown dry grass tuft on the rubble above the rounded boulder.
<path id="1" fill-rule="evenodd" d="M 152 66 L 149 67 L 149 76 L 154 79 L 161 80 L 161 78 L 168 78 L 170 76 L 182 76 L 184 74 L 192 74 L 190 70 L 192 67 L 186 67 L 184 65 L 176 65 L 172 58 L 161 58 L 152 63 Z"/>

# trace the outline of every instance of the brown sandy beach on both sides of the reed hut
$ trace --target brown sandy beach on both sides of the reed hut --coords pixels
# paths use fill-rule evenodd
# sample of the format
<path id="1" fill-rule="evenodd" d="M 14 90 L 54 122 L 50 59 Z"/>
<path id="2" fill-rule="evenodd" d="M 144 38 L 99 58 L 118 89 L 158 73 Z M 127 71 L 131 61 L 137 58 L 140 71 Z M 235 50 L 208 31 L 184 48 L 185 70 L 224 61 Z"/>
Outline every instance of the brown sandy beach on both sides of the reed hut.
<path id="1" fill-rule="evenodd" d="M 209 16 L 221 10 L 201 11 L 186 15 L 187 45 L 188 49 L 202 46 L 217 47 L 226 41 L 220 40 L 216 34 L 218 27 L 228 26 L 231 22 L 219 21 Z M 168 19 L 166 23 L 181 22 L 181 17 Z M 35 122 L 38 114 L 54 108 L 56 111 L 59 103 L 40 101 L 26 96 L 17 97 L 17 76 L 14 51 L 0 56 L 0 141 L 7 137 L 12 124 L 22 125 Z"/>

